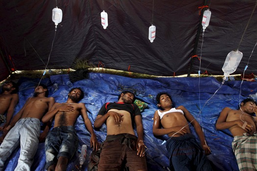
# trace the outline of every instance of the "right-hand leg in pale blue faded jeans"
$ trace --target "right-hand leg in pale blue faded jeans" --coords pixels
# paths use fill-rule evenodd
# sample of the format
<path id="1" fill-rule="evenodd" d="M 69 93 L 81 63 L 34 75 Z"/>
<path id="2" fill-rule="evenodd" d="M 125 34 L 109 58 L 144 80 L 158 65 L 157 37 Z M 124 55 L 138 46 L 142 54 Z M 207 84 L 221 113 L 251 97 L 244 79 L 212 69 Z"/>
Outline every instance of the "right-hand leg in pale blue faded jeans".
<path id="1" fill-rule="evenodd" d="M 21 151 L 18 165 L 15 171 L 30 171 L 34 161 L 34 155 L 38 149 L 38 138 L 40 134 L 40 121 L 36 118 L 24 119 L 20 127 L 21 132 Z"/>

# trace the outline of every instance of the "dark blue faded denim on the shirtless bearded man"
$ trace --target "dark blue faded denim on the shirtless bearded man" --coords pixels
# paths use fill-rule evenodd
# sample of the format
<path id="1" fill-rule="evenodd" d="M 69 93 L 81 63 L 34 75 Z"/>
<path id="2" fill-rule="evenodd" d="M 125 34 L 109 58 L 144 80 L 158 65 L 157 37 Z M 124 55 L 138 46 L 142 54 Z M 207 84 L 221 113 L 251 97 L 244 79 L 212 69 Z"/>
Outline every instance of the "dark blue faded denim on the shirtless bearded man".
<path id="1" fill-rule="evenodd" d="M 77 147 L 78 136 L 73 126 L 53 128 L 48 132 L 45 143 L 46 169 L 53 164 L 57 164 L 57 159 L 60 156 L 70 160 Z"/>

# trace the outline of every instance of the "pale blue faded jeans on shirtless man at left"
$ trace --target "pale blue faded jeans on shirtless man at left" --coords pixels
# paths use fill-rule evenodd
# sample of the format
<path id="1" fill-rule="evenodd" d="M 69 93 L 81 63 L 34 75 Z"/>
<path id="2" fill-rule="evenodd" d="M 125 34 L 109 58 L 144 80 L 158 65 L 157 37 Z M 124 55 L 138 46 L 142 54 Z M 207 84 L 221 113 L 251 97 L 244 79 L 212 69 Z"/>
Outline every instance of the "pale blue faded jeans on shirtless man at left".
<path id="1" fill-rule="evenodd" d="M 22 118 L 5 136 L 0 145 L 0 171 L 4 162 L 19 145 L 20 157 L 15 171 L 30 171 L 34 155 L 38 149 L 40 135 L 40 120 L 37 118 Z"/>

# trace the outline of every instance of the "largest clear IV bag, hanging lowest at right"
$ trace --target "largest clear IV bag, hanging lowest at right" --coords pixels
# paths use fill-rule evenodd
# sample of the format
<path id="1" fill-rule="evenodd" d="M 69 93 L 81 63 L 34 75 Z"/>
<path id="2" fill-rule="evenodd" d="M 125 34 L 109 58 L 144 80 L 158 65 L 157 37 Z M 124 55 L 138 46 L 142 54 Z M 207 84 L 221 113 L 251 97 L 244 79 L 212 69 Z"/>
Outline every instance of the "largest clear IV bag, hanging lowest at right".
<path id="1" fill-rule="evenodd" d="M 238 64 L 240 63 L 241 59 L 243 57 L 243 53 L 240 51 L 231 51 L 228 55 L 227 58 L 225 60 L 225 63 L 222 67 L 222 70 L 224 72 L 224 76 L 228 77 L 230 74 L 232 74 Z"/>

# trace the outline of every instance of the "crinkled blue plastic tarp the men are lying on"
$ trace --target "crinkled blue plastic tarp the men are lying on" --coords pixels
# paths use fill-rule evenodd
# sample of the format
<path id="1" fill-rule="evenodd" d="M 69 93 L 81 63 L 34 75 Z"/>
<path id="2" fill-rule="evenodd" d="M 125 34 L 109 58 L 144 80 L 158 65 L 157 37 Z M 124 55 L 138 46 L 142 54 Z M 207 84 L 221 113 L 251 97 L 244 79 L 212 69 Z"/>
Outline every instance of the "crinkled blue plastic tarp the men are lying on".
<path id="1" fill-rule="evenodd" d="M 21 78 L 19 83 L 20 102 L 15 109 L 17 113 L 24 105 L 26 99 L 33 93 L 35 85 L 40 79 Z M 49 96 L 55 98 L 58 103 L 66 102 L 70 87 L 66 85 L 69 81 L 68 75 L 55 75 L 50 79 L 43 79 L 41 83 L 48 85 Z M 54 92 L 53 84 L 58 84 L 58 90 Z M 210 146 L 211 154 L 208 156 L 213 164 L 214 171 L 238 171 L 231 143 L 233 136 L 228 130 L 218 131 L 215 123 L 220 111 L 224 107 L 237 109 L 239 100 L 246 98 L 249 94 L 257 92 L 256 82 L 241 81 L 228 82 L 220 87 L 220 83 L 212 77 L 207 78 L 156 78 L 135 79 L 117 75 L 90 73 L 88 79 L 73 83 L 73 87 L 81 87 L 85 91 L 85 97 L 80 101 L 85 103 L 88 115 L 93 123 L 100 107 L 105 102 L 117 101 L 118 95 L 123 90 L 134 91 L 136 97 L 148 104 L 142 111 L 142 122 L 144 128 L 144 142 L 146 147 L 146 160 L 149 171 L 168 171 L 169 161 L 165 149 L 167 136 L 155 137 L 152 132 L 153 115 L 157 110 L 155 96 L 158 92 L 167 91 L 172 95 L 176 106 L 185 106 L 196 118 L 204 129 L 207 144 Z M 241 86 L 241 88 L 240 88 Z M 242 96 L 239 96 L 241 92 Z M 213 94 L 215 95 L 213 96 Z M 213 96 L 213 97 L 212 97 Z M 211 98 L 211 99 L 210 99 Z M 209 100 L 210 99 L 210 100 Z M 207 103 L 206 103 L 207 102 Z M 201 112 L 200 112 L 201 111 Z M 78 171 L 78 155 L 81 146 L 88 146 L 87 160 L 81 171 L 87 171 L 90 147 L 90 133 L 85 128 L 83 119 L 78 117 L 75 129 L 79 137 L 79 149 L 71 159 L 67 171 Z M 190 127 L 193 134 L 195 131 Z M 99 142 L 105 140 L 106 126 L 95 130 Z M 196 134 L 195 134 L 196 135 Z M 17 165 L 20 149 L 16 149 L 10 159 L 6 161 L 5 171 L 13 171 Z M 40 143 L 32 171 L 44 171 L 45 167 L 45 144 Z"/>

